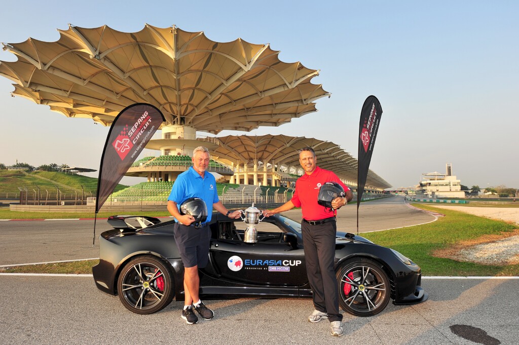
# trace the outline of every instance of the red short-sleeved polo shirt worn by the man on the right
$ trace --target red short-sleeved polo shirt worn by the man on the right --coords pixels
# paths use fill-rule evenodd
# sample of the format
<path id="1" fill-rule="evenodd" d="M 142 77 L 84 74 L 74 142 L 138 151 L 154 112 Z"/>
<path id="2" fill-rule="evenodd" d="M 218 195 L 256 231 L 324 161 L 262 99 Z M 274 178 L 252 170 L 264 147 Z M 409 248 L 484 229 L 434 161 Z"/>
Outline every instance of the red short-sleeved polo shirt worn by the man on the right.
<path id="1" fill-rule="evenodd" d="M 290 201 L 294 206 L 301 207 L 303 218 L 306 220 L 320 220 L 335 216 L 337 211 L 325 209 L 324 206 L 317 203 L 319 188 L 326 182 L 337 182 L 343 186 L 344 191 L 350 190 L 333 172 L 319 167 L 316 167 L 316 170 L 310 175 L 305 172 L 297 179 L 295 192 Z"/>

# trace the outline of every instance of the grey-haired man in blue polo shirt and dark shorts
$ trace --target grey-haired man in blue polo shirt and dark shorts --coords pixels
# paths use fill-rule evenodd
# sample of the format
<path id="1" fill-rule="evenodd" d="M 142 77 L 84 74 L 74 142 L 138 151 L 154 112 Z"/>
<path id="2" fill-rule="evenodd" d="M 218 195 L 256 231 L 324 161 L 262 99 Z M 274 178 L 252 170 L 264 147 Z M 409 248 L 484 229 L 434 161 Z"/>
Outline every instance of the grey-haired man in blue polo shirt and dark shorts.
<path id="1" fill-rule="evenodd" d="M 208 224 L 211 221 L 213 208 L 229 218 L 240 217 L 240 211 L 228 211 L 218 199 L 216 180 L 211 173 L 206 173 L 209 166 L 209 150 L 202 146 L 195 148 L 192 161 L 193 167 L 176 178 L 168 197 L 168 211 L 176 219 L 173 228 L 175 241 L 184 264 L 185 301 L 181 317 L 188 324 L 198 322 L 193 308 L 204 320 L 211 320 L 214 316 L 214 312 L 207 308 L 198 296 L 200 287 L 198 268 L 204 268 L 208 263 L 211 239 L 211 229 Z M 193 216 L 180 213 L 180 205 L 193 197 L 202 199 L 207 205 L 207 220 L 201 228 L 192 226 L 195 222 Z"/>

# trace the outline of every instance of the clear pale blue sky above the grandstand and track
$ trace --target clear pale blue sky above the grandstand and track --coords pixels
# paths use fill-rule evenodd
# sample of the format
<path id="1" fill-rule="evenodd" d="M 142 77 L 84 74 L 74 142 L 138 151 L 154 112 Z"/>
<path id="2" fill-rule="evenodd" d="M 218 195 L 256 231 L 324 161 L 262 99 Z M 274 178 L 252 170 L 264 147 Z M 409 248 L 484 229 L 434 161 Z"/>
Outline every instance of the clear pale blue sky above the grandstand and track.
<path id="1" fill-rule="evenodd" d="M 67 23 L 126 32 L 149 23 L 270 43 L 282 61 L 321 70 L 313 82 L 332 96 L 317 101 L 318 113 L 250 134 L 330 140 L 357 157 L 360 110 L 374 94 L 384 113 L 371 169 L 394 187 L 452 163 L 469 187 L 519 188 L 517 13 L 516 1 L 9 1 L 0 41 L 54 41 Z M 11 98 L 12 90 L 0 77 L 0 162 L 99 168 L 107 128 Z"/>

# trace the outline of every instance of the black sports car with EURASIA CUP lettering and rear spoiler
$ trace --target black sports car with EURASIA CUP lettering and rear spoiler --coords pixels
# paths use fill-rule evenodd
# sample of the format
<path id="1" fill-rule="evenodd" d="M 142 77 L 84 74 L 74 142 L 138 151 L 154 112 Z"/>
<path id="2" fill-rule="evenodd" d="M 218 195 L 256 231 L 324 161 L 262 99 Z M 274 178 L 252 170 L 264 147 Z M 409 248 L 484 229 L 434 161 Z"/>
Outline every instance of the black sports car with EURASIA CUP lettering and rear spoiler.
<path id="1" fill-rule="evenodd" d="M 114 229 L 100 236 L 100 263 L 92 268 L 102 291 L 151 314 L 184 299 L 184 267 L 173 223 L 143 216 L 112 216 Z M 213 214 L 209 264 L 200 269 L 200 293 L 208 297 L 311 297 L 301 224 L 282 215 L 256 225 L 257 242 L 243 241 L 239 219 Z M 346 312 L 371 316 L 395 305 L 427 300 L 420 268 L 402 254 L 352 233 L 337 232 L 335 270 L 339 303 Z"/>

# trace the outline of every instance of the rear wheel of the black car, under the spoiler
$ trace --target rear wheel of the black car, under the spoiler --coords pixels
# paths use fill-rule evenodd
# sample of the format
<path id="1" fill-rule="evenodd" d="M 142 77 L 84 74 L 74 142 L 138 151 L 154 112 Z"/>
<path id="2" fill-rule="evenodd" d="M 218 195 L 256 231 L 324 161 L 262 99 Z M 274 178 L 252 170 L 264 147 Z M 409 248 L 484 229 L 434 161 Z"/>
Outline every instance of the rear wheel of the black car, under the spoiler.
<path id="1" fill-rule="evenodd" d="M 117 279 L 122 305 L 137 314 L 152 314 L 171 303 L 175 295 L 169 264 L 153 255 L 136 257 Z"/>

